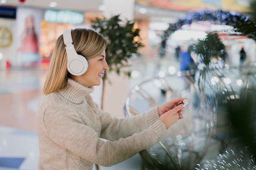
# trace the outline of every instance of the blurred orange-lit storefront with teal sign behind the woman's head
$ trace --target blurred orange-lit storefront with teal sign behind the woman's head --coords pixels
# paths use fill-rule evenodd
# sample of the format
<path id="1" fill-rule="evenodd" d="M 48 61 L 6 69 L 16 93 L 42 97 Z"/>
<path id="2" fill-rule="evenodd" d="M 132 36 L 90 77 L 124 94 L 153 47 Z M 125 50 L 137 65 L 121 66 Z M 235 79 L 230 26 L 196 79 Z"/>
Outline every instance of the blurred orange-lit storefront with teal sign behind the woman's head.
<path id="1" fill-rule="evenodd" d="M 40 31 L 41 67 L 47 68 L 57 38 L 70 28 L 90 28 L 90 21 L 99 17 L 96 13 L 74 11 L 45 11 Z"/>

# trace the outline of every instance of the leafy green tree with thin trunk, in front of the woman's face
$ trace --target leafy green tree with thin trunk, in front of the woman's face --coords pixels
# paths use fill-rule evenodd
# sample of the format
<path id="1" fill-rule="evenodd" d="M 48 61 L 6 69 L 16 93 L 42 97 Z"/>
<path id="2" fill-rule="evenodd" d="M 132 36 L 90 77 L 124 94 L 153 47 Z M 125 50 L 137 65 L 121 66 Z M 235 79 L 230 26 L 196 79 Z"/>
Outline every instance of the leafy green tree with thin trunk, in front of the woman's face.
<path id="1" fill-rule="evenodd" d="M 103 92 L 106 80 L 111 83 L 108 78 L 110 72 L 116 72 L 117 75 L 122 73 L 130 78 L 130 58 L 133 55 L 139 56 L 139 48 L 144 45 L 141 43 L 139 29 L 134 28 L 133 20 L 122 21 L 120 15 L 111 18 L 96 18 L 92 20 L 92 28 L 107 38 L 106 61 L 109 65 L 109 71 L 105 72 L 103 77 Z M 103 106 L 103 98 L 101 108 Z"/>

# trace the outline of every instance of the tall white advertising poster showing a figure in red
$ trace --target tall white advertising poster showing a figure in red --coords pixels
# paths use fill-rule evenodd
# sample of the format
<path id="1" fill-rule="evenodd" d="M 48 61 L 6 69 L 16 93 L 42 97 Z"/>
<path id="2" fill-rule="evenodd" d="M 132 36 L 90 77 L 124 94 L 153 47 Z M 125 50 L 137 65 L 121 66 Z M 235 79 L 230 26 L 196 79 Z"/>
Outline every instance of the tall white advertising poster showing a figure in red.
<path id="1" fill-rule="evenodd" d="M 37 67 L 40 64 L 39 34 L 43 10 L 23 8 L 17 9 L 18 33 L 18 66 Z"/>

